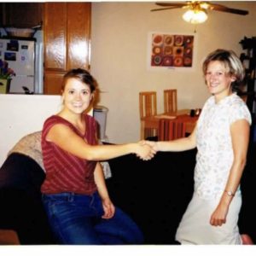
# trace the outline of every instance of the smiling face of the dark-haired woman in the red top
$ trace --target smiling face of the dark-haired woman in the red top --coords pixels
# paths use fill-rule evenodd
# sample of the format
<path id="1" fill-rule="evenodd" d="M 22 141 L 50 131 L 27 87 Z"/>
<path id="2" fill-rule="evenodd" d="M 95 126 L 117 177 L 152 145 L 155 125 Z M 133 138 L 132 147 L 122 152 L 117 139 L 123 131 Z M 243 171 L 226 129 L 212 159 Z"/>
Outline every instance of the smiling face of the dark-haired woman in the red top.
<path id="1" fill-rule="evenodd" d="M 64 109 L 72 113 L 83 113 L 92 99 L 90 86 L 79 79 L 67 79 L 62 93 Z"/>

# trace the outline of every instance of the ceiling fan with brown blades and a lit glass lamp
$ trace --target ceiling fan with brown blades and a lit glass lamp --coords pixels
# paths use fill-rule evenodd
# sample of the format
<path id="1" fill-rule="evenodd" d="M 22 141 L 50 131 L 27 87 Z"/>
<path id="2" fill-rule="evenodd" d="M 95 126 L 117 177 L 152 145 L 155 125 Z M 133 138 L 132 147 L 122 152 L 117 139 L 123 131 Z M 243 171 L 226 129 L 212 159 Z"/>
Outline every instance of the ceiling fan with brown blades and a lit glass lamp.
<path id="1" fill-rule="evenodd" d="M 207 20 L 207 11 L 208 10 L 216 10 L 220 12 L 226 12 L 234 15 L 247 15 L 249 12 L 243 9 L 233 9 L 226 7 L 222 4 L 218 3 L 210 3 L 207 1 L 186 1 L 183 3 L 155 3 L 163 8 L 159 9 L 151 9 L 154 11 L 161 11 L 166 9 L 178 9 L 183 8 L 187 9 L 187 12 L 184 13 L 183 19 L 190 23 L 202 23 Z"/>

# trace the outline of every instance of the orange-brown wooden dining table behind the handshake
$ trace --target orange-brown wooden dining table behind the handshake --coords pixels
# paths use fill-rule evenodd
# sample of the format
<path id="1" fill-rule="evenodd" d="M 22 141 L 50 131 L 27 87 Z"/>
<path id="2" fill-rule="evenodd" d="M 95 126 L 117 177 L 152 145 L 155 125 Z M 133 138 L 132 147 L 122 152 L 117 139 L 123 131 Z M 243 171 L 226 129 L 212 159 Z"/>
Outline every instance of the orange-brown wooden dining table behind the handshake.
<path id="1" fill-rule="evenodd" d="M 158 136 L 160 119 L 173 119 L 185 123 L 185 132 L 186 134 L 189 134 L 195 129 L 198 117 L 199 114 L 195 114 L 195 111 L 191 114 L 191 109 L 178 109 L 176 112 L 172 113 L 160 113 L 144 117 L 141 119 L 141 139 L 146 139 L 145 129 L 152 129 L 156 131 L 155 135 Z"/>

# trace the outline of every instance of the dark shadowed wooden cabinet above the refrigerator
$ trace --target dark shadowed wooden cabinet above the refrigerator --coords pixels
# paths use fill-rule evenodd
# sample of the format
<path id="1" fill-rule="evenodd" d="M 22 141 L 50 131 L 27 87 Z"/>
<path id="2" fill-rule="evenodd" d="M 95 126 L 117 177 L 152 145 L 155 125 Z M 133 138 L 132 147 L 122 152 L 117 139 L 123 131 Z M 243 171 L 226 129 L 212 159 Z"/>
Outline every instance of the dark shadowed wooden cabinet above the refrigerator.
<path id="1" fill-rule="evenodd" d="M 32 27 L 42 24 L 44 3 L 0 3 L 1 26 Z"/>

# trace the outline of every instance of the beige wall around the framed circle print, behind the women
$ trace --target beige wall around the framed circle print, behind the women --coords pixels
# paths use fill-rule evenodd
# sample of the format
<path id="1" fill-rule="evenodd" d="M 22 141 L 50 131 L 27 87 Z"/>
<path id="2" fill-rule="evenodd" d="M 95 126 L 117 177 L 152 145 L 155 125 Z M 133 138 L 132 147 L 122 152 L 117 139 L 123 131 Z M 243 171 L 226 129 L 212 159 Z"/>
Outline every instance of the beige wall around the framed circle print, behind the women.
<path id="1" fill-rule="evenodd" d="M 203 58 L 213 49 L 242 52 L 244 36 L 256 36 L 256 2 L 221 2 L 249 15 L 210 11 L 204 24 L 182 19 L 183 9 L 150 12 L 154 3 L 92 3 L 91 73 L 102 90 L 100 105 L 108 108 L 107 135 L 111 143 L 140 137 L 138 93 L 157 91 L 158 113 L 163 90 L 177 88 L 178 108 L 201 108 L 209 96 L 201 73 Z M 148 32 L 194 33 L 197 38 L 192 71 L 150 71 L 147 68 Z"/>

